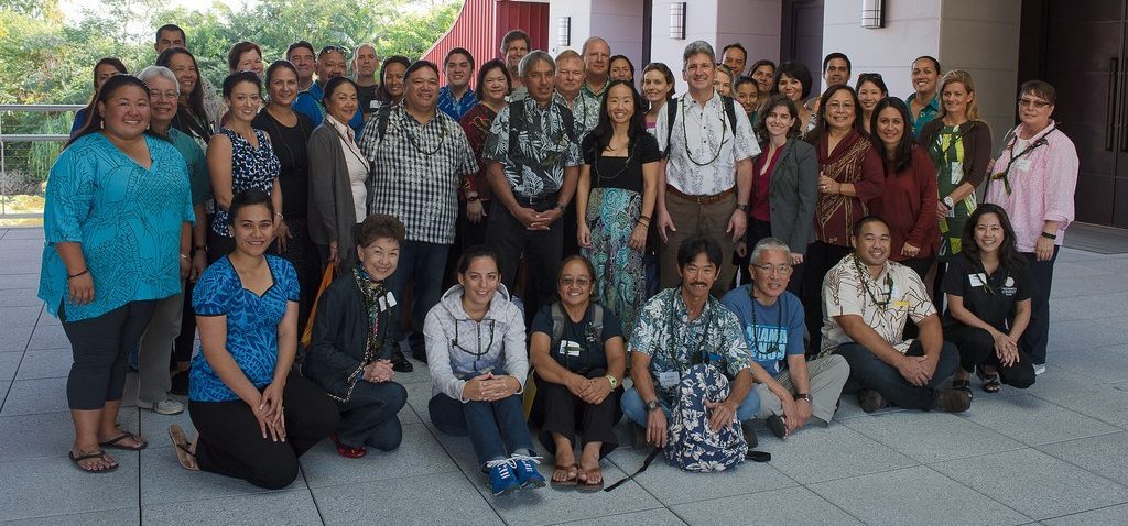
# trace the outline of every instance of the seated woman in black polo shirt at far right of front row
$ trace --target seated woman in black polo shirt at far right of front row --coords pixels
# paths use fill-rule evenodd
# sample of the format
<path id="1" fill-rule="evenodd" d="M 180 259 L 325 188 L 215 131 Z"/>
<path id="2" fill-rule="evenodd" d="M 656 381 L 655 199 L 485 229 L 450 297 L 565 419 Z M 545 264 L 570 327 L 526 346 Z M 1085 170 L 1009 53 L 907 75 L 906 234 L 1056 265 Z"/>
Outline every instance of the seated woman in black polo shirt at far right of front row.
<path id="1" fill-rule="evenodd" d="M 1001 382 L 1026 389 L 1034 367 L 1017 344 L 1030 323 L 1032 284 L 1026 260 L 1014 248 L 1014 228 L 1006 211 L 985 204 L 961 235 L 963 251 L 944 276 L 944 339 L 960 349 L 952 387 L 970 394 L 969 378 L 978 369 L 988 393 L 998 392 Z"/>

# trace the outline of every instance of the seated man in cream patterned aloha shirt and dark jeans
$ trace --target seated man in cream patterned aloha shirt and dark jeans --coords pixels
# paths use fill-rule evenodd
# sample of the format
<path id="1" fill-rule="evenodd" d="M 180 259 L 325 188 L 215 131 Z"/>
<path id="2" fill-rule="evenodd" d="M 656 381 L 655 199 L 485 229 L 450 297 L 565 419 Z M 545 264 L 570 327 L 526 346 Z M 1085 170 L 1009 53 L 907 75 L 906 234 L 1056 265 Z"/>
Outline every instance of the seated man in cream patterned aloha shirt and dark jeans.
<path id="1" fill-rule="evenodd" d="M 889 225 L 862 217 L 851 232 L 854 253 L 822 282 L 822 353 L 849 363 L 847 392 L 857 391 L 865 412 L 890 404 L 922 411 L 963 412 L 971 394 L 940 389 L 955 373 L 960 355 L 944 341 L 940 317 L 913 269 L 889 260 Z M 911 319 L 920 337 L 905 340 Z"/>

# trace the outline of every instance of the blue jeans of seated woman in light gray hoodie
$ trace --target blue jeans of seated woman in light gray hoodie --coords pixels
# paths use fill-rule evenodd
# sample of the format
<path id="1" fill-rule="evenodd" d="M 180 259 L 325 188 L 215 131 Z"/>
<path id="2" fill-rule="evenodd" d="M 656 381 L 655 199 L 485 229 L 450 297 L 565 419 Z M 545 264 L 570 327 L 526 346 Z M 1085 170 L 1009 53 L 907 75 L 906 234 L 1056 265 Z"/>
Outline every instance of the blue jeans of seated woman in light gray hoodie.
<path id="1" fill-rule="evenodd" d="M 494 375 L 508 374 L 495 369 Z M 473 374 L 462 380 L 470 380 Z M 513 394 L 493 402 L 469 401 L 462 403 L 444 393 L 435 394 L 428 404 L 431 422 L 440 431 L 453 436 L 470 437 L 478 465 L 509 458 L 514 453 L 532 456 L 532 437 L 525 422 L 521 395 Z"/>

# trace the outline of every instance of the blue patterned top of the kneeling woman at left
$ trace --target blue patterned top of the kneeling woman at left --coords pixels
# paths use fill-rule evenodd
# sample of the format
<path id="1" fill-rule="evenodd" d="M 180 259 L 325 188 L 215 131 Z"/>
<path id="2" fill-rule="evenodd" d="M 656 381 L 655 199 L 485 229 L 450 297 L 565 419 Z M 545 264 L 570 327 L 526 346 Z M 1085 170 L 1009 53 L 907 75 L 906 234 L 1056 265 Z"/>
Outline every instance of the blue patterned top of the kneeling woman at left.
<path id="1" fill-rule="evenodd" d="M 192 292 L 196 315 L 227 317 L 226 348 L 255 387 L 262 390 L 274 380 L 279 359 L 279 323 L 288 302 L 298 302 L 298 274 L 289 261 L 266 256 L 274 284 L 262 296 L 243 287 L 239 274 L 227 256 L 204 270 Z M 192 358 L 188 400 L 226 402 L 239 395 L 220 380 L 203 349 Z"/>

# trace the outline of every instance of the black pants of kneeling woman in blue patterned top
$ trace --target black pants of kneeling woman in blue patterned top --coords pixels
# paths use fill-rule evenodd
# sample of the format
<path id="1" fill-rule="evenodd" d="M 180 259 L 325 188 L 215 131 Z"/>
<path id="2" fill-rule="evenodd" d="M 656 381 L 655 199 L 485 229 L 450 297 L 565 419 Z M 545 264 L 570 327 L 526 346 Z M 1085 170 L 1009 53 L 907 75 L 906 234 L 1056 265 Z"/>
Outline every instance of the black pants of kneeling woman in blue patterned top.
<path id="1" fill-rule="evenodd" d="M 290 373 L 282 393 L 285 442 L 263 438 L 258 420 L 243 400 L 188 402 L 200 433 L 196 462 L 203 471 L 282 489 L 298 478 L 298 457 L 337 427 L 336 404 L 312 382 Z"/>

